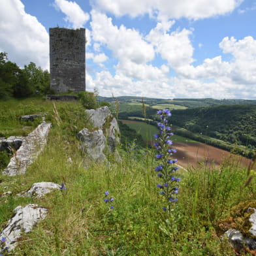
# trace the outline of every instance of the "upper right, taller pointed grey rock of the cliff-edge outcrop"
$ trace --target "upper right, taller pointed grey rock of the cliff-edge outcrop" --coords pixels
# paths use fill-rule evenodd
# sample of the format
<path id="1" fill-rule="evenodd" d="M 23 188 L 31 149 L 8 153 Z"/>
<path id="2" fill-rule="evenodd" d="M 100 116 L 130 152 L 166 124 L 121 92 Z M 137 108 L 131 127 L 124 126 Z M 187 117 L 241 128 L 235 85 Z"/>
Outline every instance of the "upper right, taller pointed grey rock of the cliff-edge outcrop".
<path id="1" fill-rule="evenodd" d="M 102 106 L 96 110 L 86 110 L 94 127 L 103 130 L 110 153 L 116 152 L 116 146 L 120 143 L 120 129 L 116 118 L 112 116 L 108 106 Z"/>

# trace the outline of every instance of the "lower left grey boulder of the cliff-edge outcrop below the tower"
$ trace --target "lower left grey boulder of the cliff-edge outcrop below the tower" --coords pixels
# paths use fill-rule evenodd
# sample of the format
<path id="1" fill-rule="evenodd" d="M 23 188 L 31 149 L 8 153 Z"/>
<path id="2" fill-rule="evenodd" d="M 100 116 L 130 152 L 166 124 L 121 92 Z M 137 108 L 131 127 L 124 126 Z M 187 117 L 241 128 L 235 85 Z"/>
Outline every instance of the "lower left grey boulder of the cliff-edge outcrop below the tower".
<path id="1" fill-rule="evenodd" d="M 81 149 L 95 161 L 104 161 L 106 159 L 103 150 L 106 147 L 106 138 L 102 130 L 89 131 L 87 128 L 78 133 L 81 142 Z"/>

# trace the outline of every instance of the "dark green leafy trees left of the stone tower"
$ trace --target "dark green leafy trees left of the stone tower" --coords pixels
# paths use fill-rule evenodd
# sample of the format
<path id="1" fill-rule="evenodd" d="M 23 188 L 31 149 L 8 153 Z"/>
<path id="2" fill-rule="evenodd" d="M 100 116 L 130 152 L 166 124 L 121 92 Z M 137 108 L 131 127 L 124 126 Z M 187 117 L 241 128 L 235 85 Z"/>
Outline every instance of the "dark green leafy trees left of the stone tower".
<path id="1" fill-rule="evenodd" d="M 0 52 L 0 99 L 46 95 L 50 90 L 50 74 L 31 62 L 21 69 Z"/>

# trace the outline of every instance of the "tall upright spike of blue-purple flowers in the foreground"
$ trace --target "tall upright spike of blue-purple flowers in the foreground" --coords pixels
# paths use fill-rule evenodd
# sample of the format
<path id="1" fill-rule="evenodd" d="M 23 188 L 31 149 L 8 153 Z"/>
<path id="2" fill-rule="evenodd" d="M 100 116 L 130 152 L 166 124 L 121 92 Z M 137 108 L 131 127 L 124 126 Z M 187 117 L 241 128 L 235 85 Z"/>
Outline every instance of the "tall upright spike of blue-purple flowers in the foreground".
<path id="1" fill-rule="evenodd" d="M 157 184 L 157 187 L 161 189 L 159 192 L 160 195 L 163 195 L 167 199 L 168 206 L 163 207 L 163 210 L 168 210 L 170 212 L 170 204 L 177 202 L 178 199 L 176 195 L 178 194 L 178 187 L 176 182 L 180 181 L 180 178 L 174 177 L 174 172 L 178 170 L 174 164 L 177 163 L 177 159 L 173 159 L 173 153 L 176 153 L 176 149 L 172 148 L 172 140 L 170 137 L 174 135 L 171 132 L 171 127 L 168 126 L 167 118 L 171 116 L 171 113 L 168 109 L 157 111 L 161 121 L 157 123 L 159 127 L 159 133 L 154 135 L 154 138 L 157 140 L 153 144 L 157 150 L 157 161 L 160 164 L 155 167 L 155 172 L 157 176 L 161 178 L 161 183 Z"/>

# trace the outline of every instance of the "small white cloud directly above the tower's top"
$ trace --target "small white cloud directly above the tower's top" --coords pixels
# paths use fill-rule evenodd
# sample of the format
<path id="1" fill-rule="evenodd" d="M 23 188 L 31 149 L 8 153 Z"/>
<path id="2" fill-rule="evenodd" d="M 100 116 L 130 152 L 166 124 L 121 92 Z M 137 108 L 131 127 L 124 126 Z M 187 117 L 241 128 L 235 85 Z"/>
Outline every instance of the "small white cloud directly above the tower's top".
<path id="1" fill-rule="evenodd" d="M 73 28 L 80 28 L 89 20 L 89 14 L 84 12 L 80 6 L 73 1 L 55 0 L 56 6 L 66 17 L 65 21 L 70 22 Z"/>

